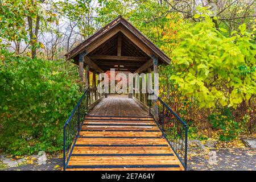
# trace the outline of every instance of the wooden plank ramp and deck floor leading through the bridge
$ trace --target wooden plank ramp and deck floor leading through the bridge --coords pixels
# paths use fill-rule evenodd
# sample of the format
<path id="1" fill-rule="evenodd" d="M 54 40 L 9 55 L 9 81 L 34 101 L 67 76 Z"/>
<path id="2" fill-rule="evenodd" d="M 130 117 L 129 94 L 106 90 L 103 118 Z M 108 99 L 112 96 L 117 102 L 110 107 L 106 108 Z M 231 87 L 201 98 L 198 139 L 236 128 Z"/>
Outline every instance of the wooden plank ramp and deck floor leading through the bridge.
<path id="1" fill-rule="evenodd" d="M 85 117 L 67 170 L 184 170 L 162 132 L 132 99 L 105 98 Z"/>

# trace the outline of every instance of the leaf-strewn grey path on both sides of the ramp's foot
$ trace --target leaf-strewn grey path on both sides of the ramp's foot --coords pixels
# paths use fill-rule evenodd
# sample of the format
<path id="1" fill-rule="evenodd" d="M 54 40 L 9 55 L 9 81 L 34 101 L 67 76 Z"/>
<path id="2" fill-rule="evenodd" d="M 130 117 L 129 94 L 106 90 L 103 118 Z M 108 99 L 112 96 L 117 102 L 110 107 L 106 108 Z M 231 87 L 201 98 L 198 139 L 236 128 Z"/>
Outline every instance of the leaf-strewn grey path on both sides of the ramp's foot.
<path id="1" fill-rule="evenodd" d="M 32 162 L 31 162 L 32 161 Z M 28 159 L 17 167 L 2 168 L 6 171 L 59 171 L 63 159 L 60 155 L 47 155 L 46 164 Z M 211 148 L 189 152 L 188 170 L 193 171 L 256 171 L 256 149 L 254 148 Z"/>

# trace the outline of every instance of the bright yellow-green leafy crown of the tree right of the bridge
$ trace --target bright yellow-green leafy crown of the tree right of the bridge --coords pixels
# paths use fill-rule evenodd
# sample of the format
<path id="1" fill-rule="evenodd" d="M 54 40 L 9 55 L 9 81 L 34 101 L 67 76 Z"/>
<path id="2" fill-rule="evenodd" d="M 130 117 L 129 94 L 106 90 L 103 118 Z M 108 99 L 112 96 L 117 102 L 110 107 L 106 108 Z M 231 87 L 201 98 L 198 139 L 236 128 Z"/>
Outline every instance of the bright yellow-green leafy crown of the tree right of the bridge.
<path id="1" fill-rule="evenodd" d="M 245 25 L 239 29 L 243 36 L 233 32 L 225 37 L 205 18 L 179 34 L 180 46 L 172 52 L 177 73 L 171 79 L 184 96 L 195 97 L 200 107 L 236 108 L 256 94 L 255 44 Z"/>

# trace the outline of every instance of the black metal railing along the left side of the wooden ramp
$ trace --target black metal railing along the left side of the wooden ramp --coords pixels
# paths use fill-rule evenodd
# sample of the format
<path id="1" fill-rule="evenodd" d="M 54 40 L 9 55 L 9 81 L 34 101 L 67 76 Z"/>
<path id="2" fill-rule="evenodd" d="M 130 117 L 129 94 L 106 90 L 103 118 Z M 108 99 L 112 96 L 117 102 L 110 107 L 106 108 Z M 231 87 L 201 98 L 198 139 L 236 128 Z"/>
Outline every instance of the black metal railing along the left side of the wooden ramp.
<path id="1" fill-rule="evenodd" d="M 71 157 L 73 147 L 75 146 L 77 138 L 79 138 L 79 133 L 84 121 L 85 115 L 88 113 L 88 98 L 89 98 L 89 88 L 82 94 L 82 97 L 77 102 L 75 108 L 73 109 L 71 115 L 69 116 L 67 122 L 63 129 L 63 169 L 68 166 L 69 158 Z"/>

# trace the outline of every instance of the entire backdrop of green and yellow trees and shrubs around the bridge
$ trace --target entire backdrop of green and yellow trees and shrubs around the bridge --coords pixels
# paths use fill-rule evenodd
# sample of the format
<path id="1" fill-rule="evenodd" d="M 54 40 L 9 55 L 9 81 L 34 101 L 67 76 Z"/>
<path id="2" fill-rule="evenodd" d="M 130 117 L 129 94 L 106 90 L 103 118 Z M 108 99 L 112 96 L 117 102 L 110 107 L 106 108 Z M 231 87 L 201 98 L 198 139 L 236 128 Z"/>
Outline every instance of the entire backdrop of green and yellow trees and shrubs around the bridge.
<path id="1" fill-rule="evenodd" d="M 81 93 L 77 68 L 60 58 L 118 15 L 171 58 L 159 66 L 160 97 L 188 123 L 189 138 L 253 134 L 255 2 L 214 2 L 213 13 L 191 0 L 0 1 L 0 148 L 61 149 Z"/>

